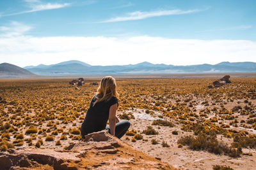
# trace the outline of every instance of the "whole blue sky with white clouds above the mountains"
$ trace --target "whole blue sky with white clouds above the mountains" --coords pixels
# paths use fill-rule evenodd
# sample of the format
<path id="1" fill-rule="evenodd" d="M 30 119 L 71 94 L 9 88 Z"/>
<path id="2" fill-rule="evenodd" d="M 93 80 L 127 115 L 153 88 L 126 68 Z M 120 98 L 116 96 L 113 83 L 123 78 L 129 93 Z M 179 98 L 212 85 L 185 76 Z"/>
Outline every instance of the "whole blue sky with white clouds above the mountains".
<path id="1" fill-rule="evenodd" d="M 256 62 L 255 0 L 1 0 L 0 63 Z"/>

